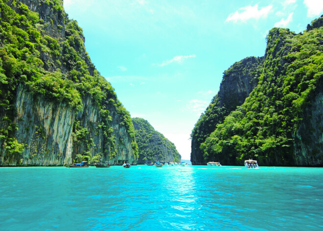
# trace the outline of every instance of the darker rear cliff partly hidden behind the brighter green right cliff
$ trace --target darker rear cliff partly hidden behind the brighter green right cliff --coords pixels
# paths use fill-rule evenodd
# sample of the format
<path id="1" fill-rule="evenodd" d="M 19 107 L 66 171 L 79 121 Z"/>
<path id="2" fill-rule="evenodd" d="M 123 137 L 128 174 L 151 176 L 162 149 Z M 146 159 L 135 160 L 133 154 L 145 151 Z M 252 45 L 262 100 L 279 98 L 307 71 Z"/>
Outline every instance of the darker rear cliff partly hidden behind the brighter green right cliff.
<path id="1" fill-rule="evenodd" d="M 205 165 L 208 161 L 213 161 L 204 158 L 200 145 L 216 128 L 216 125 L 223 122 L 225 116 L 236 106 L 244 103 L 250 92 L 258 84 L 263 59 L 263 57 L 247 57 L 234 63 L 224 72 L 218 94 L 213 98 L 192 130 L 192 164 Z"/>

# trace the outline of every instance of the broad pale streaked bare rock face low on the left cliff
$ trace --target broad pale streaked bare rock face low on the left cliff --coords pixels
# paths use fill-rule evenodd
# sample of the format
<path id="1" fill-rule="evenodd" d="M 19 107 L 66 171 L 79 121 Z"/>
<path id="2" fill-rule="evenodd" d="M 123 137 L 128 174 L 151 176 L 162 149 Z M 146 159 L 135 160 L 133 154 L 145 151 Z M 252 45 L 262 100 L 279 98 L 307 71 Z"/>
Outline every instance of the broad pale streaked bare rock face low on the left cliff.
<path id="1" fill-rule="evenodd" d="M 58 166 L 71 162 L 75 110 L 42 97 L 34 98 L 23 85 L 17 90 L 16 107 L 16 135 L 26 146 L 21 158 L 2 158 L 2 164 Z"/>

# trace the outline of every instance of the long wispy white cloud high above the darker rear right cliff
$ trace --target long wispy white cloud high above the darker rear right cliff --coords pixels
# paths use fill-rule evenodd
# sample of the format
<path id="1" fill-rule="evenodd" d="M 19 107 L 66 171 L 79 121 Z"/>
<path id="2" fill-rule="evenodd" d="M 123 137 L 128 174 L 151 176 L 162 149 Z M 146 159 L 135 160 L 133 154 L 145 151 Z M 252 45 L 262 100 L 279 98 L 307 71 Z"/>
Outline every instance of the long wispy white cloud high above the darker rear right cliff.
<path id="1" fill-rule="evenodd" d="M 229 15 L 229 17 L 226 19 L 226 21 L 228 21 L 228 22 L 229 21 L 246 22 L 250 19 L 257 19 L 258 20 L 260 18 L 267 18 L 268 14 L 272 10 L 272 8 L 273 8 L 272 5 L 261 7 L 260 9 L 258 9 L 258 4 L 255 4 L 254 6 L 251 6 L 251 5 L 245 6 L 245 7 L 238 9 L 234 13 L 231 13 Z"/>

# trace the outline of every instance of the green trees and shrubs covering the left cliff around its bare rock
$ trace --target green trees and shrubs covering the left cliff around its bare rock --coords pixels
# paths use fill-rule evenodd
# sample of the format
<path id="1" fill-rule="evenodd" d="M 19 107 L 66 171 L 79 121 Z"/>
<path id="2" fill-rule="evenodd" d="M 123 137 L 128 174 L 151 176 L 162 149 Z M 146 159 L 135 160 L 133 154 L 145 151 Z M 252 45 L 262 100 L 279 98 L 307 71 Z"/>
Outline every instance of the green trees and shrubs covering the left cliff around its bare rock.
<path id="1" fill-rule="evenodd" d="M 117 100 L 111 84 L 92 64 L 84 47 L 82 29 L 68 18 L 63 1 L 33 2 L 39 13 L 29 10 L 22 2 L 29 1 L 0 0 L 0 155 L 3 159 L 19 155 L 25 146 L 15 136 L 18 129 L 14 123 L 15 101 L 19 85 L 34 97 L 63 103 L 76 113 L 82 110 L 82 97 L 91 97 L 102 117 L 100 128 L 104 130 L 105 142 L 110 144 L 109 150 L 102 154 L 106 158 L 115 157 L 117 152 L 110 129 L 111 110 L 115 111 L 121 118 L 118 123 L 126 127 L 133 152 L 138 156 L 130 114 Z M 86 139 L 79 134 L 81 131 L 88 134 L 84 129 L 87 128 L 74 125 L 74 144 Z M 88 156 L 89 151 L 90 148 L 78 154 Z"/>

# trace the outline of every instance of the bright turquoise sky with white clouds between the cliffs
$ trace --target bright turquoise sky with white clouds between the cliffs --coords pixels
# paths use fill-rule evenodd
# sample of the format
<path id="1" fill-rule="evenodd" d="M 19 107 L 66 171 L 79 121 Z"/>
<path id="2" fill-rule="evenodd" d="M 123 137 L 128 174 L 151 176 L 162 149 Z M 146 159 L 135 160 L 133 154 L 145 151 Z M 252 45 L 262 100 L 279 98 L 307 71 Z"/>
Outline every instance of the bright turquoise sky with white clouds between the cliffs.
<path id="1" fill-rule="evenodd" d="M 131 117 L 190 159 L 191 131 L 223 72 L 263 56 L 271 28 L 304 31 L 323 0 L 64 0 L 64 8 Z"/>

